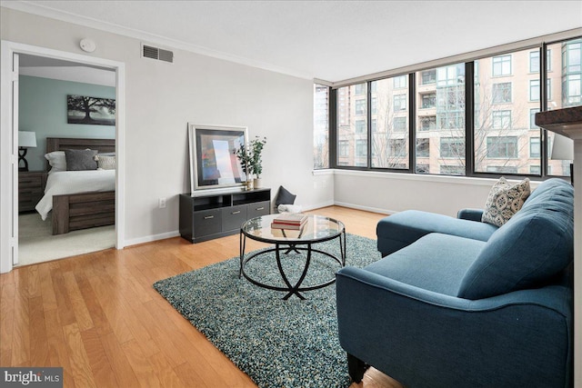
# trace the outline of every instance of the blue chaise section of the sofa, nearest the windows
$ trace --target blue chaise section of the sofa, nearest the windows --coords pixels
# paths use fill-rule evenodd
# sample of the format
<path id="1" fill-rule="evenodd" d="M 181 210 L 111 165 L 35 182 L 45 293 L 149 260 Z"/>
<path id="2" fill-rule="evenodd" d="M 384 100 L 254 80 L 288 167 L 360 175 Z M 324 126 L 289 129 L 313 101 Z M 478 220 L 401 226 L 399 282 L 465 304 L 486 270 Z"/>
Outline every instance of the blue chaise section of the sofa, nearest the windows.
<path id="1" fill-rule="evenodd" d="M 376 225 L 378 251 L 392 254 L 430 233 L 451 234 L 487 241 L 497 226 L 459 220 L 444 214 L 406 210 L 381 219 Z"/>

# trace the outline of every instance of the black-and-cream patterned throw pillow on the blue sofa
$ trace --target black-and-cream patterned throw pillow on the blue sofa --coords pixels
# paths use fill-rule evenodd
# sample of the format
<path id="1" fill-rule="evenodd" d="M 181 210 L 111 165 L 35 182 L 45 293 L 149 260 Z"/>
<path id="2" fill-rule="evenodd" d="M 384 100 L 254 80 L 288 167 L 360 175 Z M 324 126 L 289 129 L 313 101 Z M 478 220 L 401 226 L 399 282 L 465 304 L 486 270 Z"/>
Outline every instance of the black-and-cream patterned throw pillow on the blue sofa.
<path id="1" fill-rule="evenodd" d="M 503 176 L 493 185 L 481 221 L 502 226 L 516 214 L 530 194 L 529 178 L 518 184 L 510 184 Z"/>

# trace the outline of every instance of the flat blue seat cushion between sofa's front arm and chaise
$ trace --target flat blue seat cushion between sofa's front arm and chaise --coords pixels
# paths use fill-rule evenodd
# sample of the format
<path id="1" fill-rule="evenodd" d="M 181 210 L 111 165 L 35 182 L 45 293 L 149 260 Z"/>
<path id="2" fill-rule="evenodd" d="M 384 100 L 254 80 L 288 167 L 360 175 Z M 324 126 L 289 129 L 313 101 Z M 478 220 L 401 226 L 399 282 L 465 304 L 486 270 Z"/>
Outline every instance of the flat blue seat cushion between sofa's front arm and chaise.
<path id="1" fill-rule="evenodd" d="M 485 244 L 449 234 L 426 234 L 415 244 L 364 269 L 425 290 L 457 296 L 463 277 Z"/>

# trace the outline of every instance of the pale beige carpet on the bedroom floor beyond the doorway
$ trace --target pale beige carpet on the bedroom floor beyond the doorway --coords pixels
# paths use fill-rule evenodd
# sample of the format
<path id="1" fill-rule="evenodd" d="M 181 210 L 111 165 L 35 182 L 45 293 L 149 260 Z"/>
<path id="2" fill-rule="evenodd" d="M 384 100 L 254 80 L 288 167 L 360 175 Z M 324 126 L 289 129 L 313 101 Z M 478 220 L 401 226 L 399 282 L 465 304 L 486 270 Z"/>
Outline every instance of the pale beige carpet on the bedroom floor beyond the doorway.
<path id="1" fill-rule="evenodd" d="M 115 225 L 52 235 L 51 214 L 18 215 L 18 265 L 42 263 L 115 246 Z"/>

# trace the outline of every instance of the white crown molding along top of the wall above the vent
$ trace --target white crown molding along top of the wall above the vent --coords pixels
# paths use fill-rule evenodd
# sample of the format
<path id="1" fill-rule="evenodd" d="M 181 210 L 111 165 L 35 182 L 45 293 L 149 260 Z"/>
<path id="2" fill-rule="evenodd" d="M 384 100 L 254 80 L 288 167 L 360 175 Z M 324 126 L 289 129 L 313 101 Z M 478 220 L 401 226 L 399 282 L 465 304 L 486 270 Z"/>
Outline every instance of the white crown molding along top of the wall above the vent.
<path id="1" fill-rule="evenodd" d="M 50 19 L 59 20 L 61 22 L 70 23 L 73 25 L 82 25 L 88 28 L 94 28 L 96 30 L 105 31 L 115 35 L 131 37 L 140 41 L 146 41 L 147 43 L 154 45 L 162 45 L 168 48 L 184 50 L 186 52 L 198 55 L 205 55 L 216 59 L 222 59 L 239 65 L 256 67 L 269 72 L 313 80 L 313 75 L 309 75 L 306 72 L 296 71 L 294 69 L 289 69 L 283 66 L 267 64 L 265 62 L 256 61 L 254 59 L 246 58 L 244 56 L 232 55 L 229 53 L 213 50 L 211 48 L 207 48 L 200 45 L 192 45 L 183 41 L 168 38 L 166 36 L 151 34 L 147 33 L 146 31 L 128 28 L 122 25 L 115 25 L 113 23 L 103 22 L 100 20 L 93 19 L 91 17 L 75 15 L 72 13 L 67 13 L 65 11 L 55 10 L 54 8 L 50 8 L 45 5 L 33 4 L 27 1 L 0 1 L 0 6 L 13 9 L 15 11 L 24 12 L 27 14 L 48 17 Z"/>

